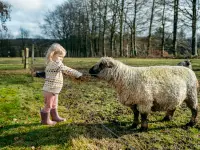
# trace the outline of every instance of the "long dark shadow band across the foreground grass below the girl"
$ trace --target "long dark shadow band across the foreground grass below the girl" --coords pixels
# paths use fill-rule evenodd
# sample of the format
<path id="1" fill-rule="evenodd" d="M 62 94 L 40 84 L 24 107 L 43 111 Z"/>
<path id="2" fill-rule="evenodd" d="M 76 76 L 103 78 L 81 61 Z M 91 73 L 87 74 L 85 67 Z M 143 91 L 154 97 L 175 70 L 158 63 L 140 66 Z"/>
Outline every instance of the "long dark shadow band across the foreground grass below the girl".
<path id="1" fill-rule="evenodd" d="M 126 122 L 124 122 L 125 124 Z M 129 122 L 130 124 L 130 122 Z M 109 128 L 118 137 L 128 134 L 140 133 L 139 128 L 131 129 L 128 126 L 119 126 L 113 123 L 72 123 L 72 124 L 57 124 L 55 126 L 44 126 L 39 123 L 33 124 L 15 124 L 4 126 L 0 128 L 0 133 L 13 130 L 14 132 L 0 136 L 0 149 L 7 146 L 11 147 L 41 147 L 51 145 L 71 145 L 72 139 L 77 138 L 80 135 L 88 138 L 117 138 L 110 131 L 106 130 L 103 126 Z M 17 129 L 19 128 L 19 129 Z M 148 131 L 166 130 L 181 128 L 177 125 L 168 125 L 165 127 L 149 128 Z M 16 130 L 15 130 L 16 129 Z M 22 129 L 22 130 L 20 130 Z M 199 126 L 197 126 L 199 129 Z"/>

